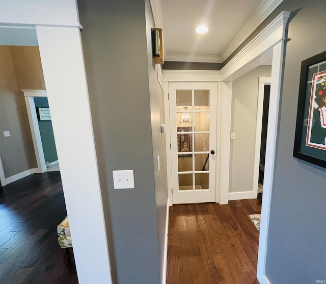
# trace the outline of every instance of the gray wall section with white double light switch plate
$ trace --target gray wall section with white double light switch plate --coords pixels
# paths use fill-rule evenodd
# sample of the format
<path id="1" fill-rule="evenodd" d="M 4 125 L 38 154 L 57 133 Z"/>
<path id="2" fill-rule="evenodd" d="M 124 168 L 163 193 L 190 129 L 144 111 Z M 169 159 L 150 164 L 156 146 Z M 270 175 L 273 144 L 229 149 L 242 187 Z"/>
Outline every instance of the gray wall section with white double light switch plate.
<path id="1" fill-rule="evenodd" d="M 166 158 L 149 2 L 79 0 L 78 9 L 113 281 L 159 283 Z M 127 169 L 135 188 L 114 190 L 112 171 Z"/>

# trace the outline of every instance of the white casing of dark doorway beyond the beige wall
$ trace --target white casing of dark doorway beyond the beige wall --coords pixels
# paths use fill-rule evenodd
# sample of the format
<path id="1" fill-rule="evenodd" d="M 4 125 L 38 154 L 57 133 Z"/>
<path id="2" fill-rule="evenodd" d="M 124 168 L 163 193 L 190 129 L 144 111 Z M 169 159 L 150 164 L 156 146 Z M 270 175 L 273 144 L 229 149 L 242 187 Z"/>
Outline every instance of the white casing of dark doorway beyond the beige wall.
<path id="1" fill-rule="evenodd" d="M 258 179 L 259 179 L 259 161 L 260 161 L 260 142 L 261 142 L 261 127 L 263 119 L 264 105 L 264 88 L 265 85 L 270 85 L 270 77 L 259 77 L 258 79 L 258 102 L 256 116 L 256 139 L 255 139 L 255 154 L 254 154 L 254 176 L 253 176 L 253 196 L 258 194 Z"/>

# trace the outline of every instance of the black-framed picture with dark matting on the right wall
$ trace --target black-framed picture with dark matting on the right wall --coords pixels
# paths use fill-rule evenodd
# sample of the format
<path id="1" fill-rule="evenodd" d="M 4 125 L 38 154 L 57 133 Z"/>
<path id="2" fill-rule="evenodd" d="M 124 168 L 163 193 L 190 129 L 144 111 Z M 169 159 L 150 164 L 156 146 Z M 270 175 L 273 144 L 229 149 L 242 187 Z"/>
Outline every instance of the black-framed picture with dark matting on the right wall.
<path id="1" fill-rule="evenodd" d="M 326 168 L 326 51 L 301 64 L 293 156 Z"/>

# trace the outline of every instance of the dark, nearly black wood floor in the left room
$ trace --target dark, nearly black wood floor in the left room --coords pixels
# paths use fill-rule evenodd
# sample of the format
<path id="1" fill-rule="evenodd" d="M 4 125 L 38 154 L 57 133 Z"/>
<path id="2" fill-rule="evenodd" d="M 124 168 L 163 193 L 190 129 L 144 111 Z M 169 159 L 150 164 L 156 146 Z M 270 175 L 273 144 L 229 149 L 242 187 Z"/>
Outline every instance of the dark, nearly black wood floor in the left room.
<path id="1" fill-rule="evenodd" d="M 60 172 L 33 174 L 3 187 L 0 283 L 78 283 L 57 241 L 57 225 L 66 215 Z"/>

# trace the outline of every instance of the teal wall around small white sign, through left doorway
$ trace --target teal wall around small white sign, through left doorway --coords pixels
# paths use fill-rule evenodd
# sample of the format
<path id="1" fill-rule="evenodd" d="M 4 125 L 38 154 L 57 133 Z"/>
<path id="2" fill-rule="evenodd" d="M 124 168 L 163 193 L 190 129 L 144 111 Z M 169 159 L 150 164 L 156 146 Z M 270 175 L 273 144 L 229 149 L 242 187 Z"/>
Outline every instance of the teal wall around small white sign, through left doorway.
<path id="1" fill-rule="evenodd" d="M 48 108 L 47 98 L 34 98 L 35 107 Z M 46 162 L 58 161 L 55 137 L 53 136 L 53 128 L 51 120 L 39 120 L 39 129 L 42 140 L 44 158 Z"/>

